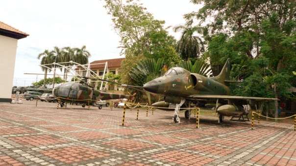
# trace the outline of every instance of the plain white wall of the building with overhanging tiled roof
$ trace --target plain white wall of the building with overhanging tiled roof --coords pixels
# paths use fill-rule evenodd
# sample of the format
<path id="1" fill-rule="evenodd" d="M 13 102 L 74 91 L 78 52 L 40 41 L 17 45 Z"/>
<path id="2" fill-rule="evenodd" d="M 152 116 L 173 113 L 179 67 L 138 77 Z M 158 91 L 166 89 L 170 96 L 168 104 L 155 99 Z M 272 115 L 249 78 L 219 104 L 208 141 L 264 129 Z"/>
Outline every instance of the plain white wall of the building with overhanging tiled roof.
<path id="1" fill-rule="evenodd" d="M 11 99 L 17 39 L 0 35 L 0 100 Z"/>

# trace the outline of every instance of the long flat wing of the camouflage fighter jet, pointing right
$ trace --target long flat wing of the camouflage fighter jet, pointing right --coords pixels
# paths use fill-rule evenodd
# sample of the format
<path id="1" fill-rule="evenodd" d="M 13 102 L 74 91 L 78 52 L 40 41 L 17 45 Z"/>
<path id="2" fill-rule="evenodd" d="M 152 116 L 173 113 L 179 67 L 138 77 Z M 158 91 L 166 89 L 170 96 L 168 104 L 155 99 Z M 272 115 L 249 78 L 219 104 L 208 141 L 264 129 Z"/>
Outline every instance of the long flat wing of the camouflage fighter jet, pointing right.
<path id="1" fill-rule="evenodd" d="M 247 97 L 247 96 L 228 96 L 228 95 L 191 95 L 186 99 L 232 99 L 232 100 L 255 100 L 255 101 L 275 101 L 275 98 Z"/>

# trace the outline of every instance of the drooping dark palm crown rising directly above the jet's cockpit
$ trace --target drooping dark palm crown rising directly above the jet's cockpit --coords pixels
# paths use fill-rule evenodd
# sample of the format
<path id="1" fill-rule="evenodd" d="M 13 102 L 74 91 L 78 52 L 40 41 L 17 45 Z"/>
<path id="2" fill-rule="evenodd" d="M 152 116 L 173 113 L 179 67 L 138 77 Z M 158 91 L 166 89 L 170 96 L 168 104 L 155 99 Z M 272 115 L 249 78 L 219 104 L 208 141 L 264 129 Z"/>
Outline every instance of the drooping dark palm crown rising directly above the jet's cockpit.
<path id="1" fill-rule="evenodd" d="M 190 58 L 196 59 L 202 52 L 204 52 L 204 42 L 200 37 L 195 35 L 196 33 L 202 33 L 202 27 L 180 25 L 174 27 L 173 30 L 175 32 L 182 30 L 182 35 L 180 40 L 177 42 L 176 50 L 183 60 L 187 61 Z"/>

